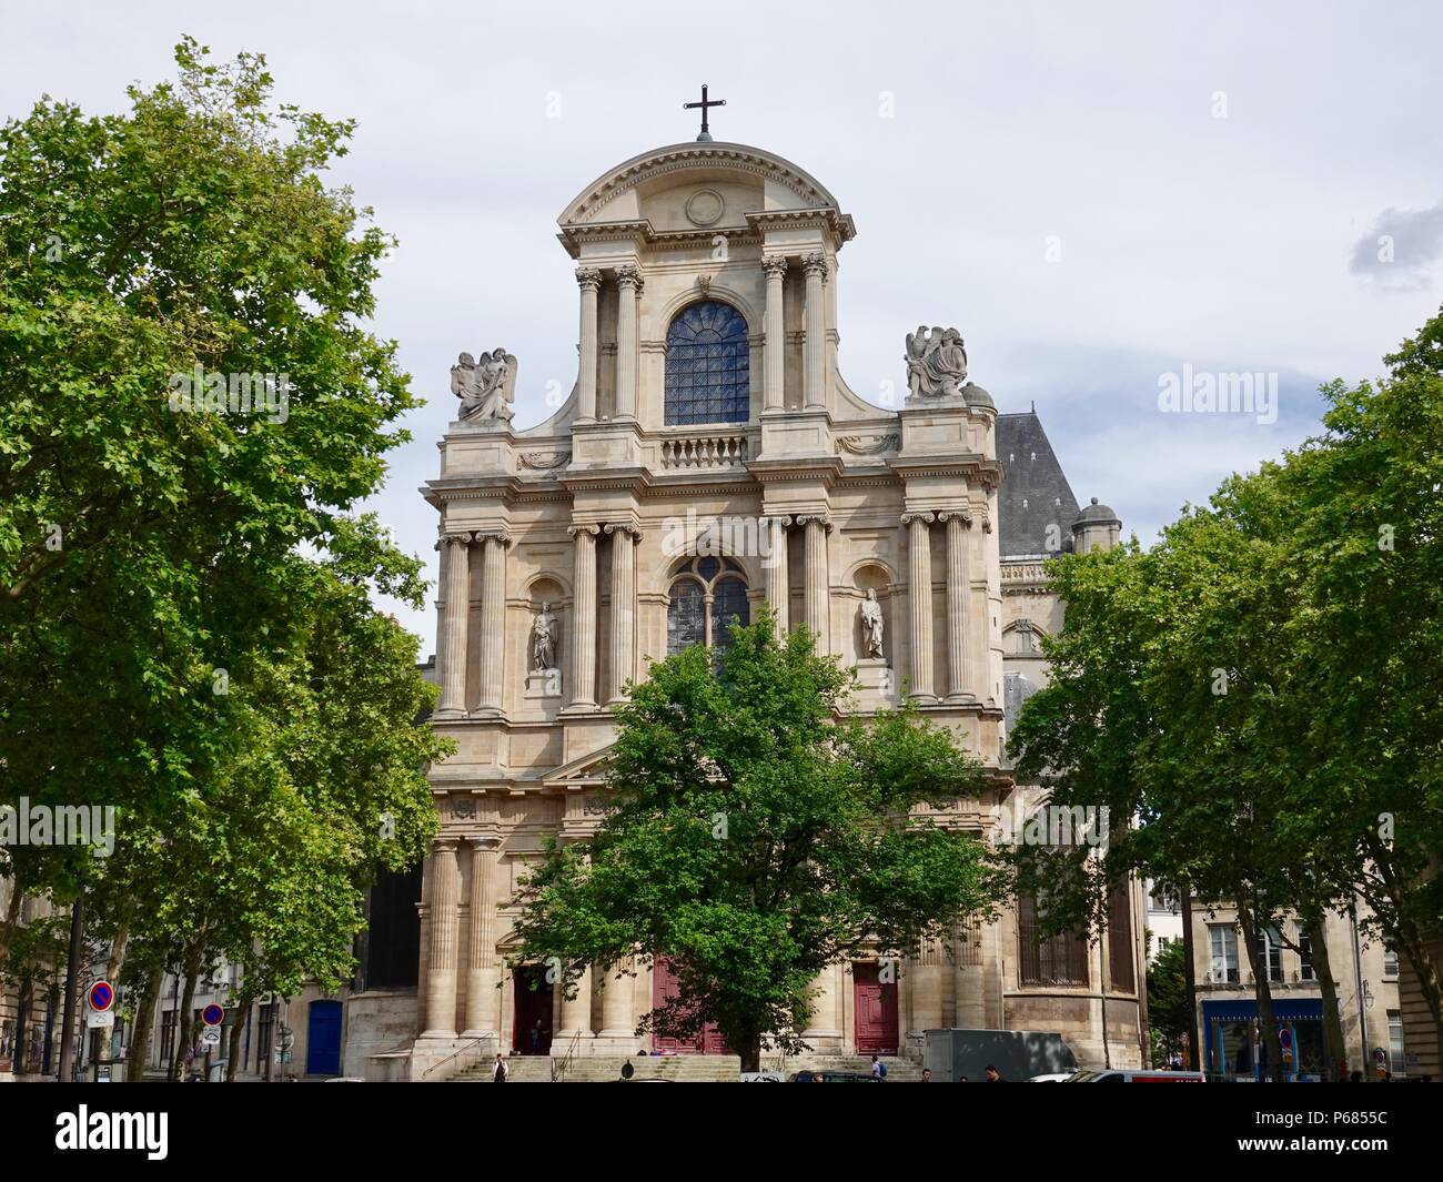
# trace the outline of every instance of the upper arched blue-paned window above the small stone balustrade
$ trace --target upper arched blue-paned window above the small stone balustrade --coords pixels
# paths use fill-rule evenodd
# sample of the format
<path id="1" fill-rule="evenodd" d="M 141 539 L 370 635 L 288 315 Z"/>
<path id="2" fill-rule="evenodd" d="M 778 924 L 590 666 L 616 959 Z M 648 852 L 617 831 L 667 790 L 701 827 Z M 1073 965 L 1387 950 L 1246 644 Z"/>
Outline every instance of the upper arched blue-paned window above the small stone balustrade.
<path id="1" fill-rule="evenodd" d="M 667 330 L 667 426 L 745 423 L 749 391 L 742 313 L 711 300 L 683 309 Z"/>

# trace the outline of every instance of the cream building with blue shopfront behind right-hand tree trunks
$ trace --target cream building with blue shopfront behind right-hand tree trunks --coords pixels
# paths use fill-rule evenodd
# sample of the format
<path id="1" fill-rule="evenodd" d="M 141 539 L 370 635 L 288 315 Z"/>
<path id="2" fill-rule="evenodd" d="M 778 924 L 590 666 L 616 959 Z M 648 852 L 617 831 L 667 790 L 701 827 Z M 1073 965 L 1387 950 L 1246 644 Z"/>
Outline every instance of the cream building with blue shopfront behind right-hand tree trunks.
<path id="1" fill-rule="evenodd" d="M 1338 990 L 1346 1069 L 1362 1071 L 1371 1078 L 1384 1071 L 1405 1078 L 1410 1059 L 1398 1000 L 1397 954 L 1367 938 L 1351 916 L 1329 915 L 1325 931 L 1328 963 Z M 1195 902 L 1192 934 L 1201 1065 L 1208 1072 L 1240 1080 L 1270 1074 L 1267 1048 L 1258 1033 L 1254 990 L 1260 966 L 1248 957 L 1235 909 Z M 1284 1072 L 1322 1078 L 1322 990 L 1313 967 L 1312 942 L 1296 919 L 1287 918 L 1270 931 L 1264 940 L 1263 961 L 1274 1013 L 1284 1032 Z M 1413 1069 L 1417 1071 L 1416 1062 Z"/>

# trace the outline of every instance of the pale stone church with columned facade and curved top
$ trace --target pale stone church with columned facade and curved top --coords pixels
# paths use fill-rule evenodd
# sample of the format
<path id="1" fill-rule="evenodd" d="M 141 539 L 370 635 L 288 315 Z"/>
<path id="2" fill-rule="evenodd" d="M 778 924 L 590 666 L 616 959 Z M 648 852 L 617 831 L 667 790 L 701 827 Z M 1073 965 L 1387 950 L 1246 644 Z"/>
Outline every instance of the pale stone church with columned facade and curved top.
<path id="1" fill-rule="evenodd" d="M 906 694 L 986 765 L 986 797 L 947 823 L 997 840 L 1013 801 L 1036 794 L 1014 784 L 1004 743 L 1046 677 L 1038 636 L 1061 623 L 1040 561 L 1111 544 L 1120 522 L 1095 501 L 1078 509 L 1038 417 L 999 414 L 951 329 L 898 342 L 896 408 L 848 388 L 837 286 L 854 234 L 820 180 L 771 152 L 710 136 L 646 152 L 560 216 L 579 303 L 566 404 L 518 429 L 524 358 L 463 354 L 453 368 L 457 417 L 424 495 L 440 518 L 434 724 L 457 750 L 430 772 L 442 831 L 421 876 L 414 1002 L 351 997 L 352 1074 L 636 1052 L 665 967 L 595 967 L 574 1000 L 532 990 L 509 901 L 545 837 L 599 823 L 625 684 L 680 647 L 723 644 L 726 622 L 763 602 L 856 667 L 860 712 Z M 906 1054 L 929 1028 L 1058 1030 L 1082 1062 L 1137 1064 L 1140 892 L 1114 903 L 1101 945 L 1033 940 L 1025 903 L 922 948 L 898 984 L 876 963 L 838 964 L 808 1041 L 818 1055 Z"/>

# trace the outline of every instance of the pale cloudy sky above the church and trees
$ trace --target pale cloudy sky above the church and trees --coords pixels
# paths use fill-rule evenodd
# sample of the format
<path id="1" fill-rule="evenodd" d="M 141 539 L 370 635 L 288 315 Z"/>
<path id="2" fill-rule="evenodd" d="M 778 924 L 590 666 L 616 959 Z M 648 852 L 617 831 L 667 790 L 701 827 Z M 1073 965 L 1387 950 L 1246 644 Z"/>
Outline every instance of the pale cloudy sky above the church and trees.
<path id="1" fill-rule="evenodd" d="M 0 117 L 124 110 L 190 33 L 267 56 L 276 95 L 358 121 L 335 183 L 400 245 L 371 326 L 427 406 L 367 505 L 436 577 L 449 367 L 504 345 L 518 427 L 576 374 L 556 218 L 641 152 L 717 140 L 851 214 L 841 372 L 905 388 L 955 325 L 999 410 L 1036 407 L 1082 504 L 1143 543 L 1319 430 L 1317 385 L 1384 371 L 1443 300 L 1443 9 L 1424 3 L 876 4 L 0 0 Z M 1160 408 L 1169 375 L 1263 374 L 1276 416 Z M 434 649 L 434 610 L 387 603 Z"/>

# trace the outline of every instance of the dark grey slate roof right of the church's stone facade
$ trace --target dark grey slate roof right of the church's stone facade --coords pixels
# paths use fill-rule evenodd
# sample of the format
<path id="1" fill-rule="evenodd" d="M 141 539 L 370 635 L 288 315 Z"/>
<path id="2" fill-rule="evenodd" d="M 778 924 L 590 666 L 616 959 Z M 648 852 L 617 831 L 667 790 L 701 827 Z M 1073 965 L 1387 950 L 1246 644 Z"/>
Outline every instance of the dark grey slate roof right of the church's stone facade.
<path id="1" fill-rule="evenodd" d="M 1071 550 L 1078 499 L 1036 411 L 997 416 L 997 459 L 1003 468 L 997 498 L 1001 557 Z M 1061 540 L 1061 550 L 1048 547 L 1049 525 L 1058 527 L 1053 540 Z"/>

